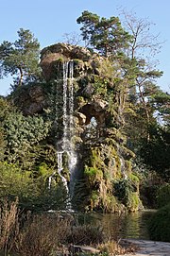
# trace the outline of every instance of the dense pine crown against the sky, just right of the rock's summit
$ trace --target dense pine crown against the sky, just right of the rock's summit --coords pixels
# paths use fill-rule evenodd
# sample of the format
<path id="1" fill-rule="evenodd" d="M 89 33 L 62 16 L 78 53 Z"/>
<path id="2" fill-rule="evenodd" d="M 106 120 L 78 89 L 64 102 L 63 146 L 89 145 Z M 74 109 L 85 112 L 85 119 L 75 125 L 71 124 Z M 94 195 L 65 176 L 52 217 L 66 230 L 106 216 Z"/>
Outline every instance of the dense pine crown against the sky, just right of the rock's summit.
<path id="1" fill-rule="evenodd" d="M 105 57 L 127 48 L 131 39 L 118 17 L 100 18 L 85 10 L 76 22 L 83 25 L 80 28 L 83 40 Z"/>

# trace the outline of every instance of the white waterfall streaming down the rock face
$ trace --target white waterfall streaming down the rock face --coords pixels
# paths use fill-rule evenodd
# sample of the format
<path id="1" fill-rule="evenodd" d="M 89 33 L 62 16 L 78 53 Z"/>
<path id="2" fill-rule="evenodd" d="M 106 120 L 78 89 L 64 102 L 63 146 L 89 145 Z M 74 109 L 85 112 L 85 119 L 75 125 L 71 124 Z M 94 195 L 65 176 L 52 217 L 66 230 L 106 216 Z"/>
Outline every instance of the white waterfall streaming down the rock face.
<path id="1" fill-rule="evenodd" d="M 64 62 L 62 65 L 63 76 L 62 86 L 59 87 L 57 82 L 56 87 L 56 119 L 55 122 L 59 126 L 59 111 L 62 115 L 62 133 L 57 142 L 57 158 L 58 158 L 58 172 L 59 177 L 63 182 L 66 192 L 69 197 L 73 196 L 73 174 L 76 166 L 76 153 L 74 151 L 74 145 L 72 143 L 72 137 L 74 135 L 74 63 L 73 61 Z M 62 99 L 60 98 L 60 92 L 62 92 Z M 61 103 L 60 103 L 60 102 Z M 59 106 L 59 104 L 61 106 Z M 59 108 L 60 107 L 60 108 Z M 68 187 L 67 179 L 62 175 L 63 171 L 63 154 L 68 157 L 68 169 L 70 172 L 70 184 Z M 54 174 L 49 178 L 49 187 L 51 186 L 51 180 Z"/>

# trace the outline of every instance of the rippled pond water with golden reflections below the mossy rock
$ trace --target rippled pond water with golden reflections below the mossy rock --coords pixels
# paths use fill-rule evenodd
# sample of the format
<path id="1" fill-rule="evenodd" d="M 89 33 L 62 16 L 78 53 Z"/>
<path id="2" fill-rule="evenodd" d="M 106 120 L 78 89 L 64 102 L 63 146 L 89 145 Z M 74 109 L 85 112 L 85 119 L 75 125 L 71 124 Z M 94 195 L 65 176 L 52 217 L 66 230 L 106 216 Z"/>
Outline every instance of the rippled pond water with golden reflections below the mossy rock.
<path id="1" fill-rule="evenodd" d="M 102 227 L 111 238 L 149 239 L 147 221 L 154 210 L 137 213 L 85 213 L 78 214 L 78 222 Z"/>

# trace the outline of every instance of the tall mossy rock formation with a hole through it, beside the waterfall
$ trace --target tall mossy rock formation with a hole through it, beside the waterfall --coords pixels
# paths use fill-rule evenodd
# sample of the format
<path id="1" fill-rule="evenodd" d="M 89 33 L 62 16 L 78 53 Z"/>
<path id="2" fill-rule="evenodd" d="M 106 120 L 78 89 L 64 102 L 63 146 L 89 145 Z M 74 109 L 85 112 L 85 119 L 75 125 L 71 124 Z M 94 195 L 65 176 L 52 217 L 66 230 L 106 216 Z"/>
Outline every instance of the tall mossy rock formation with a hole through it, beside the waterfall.
<path id="1" fill-rule="evenodd" d="M 116 62 L 112 64 L 80 46 L 57 43 L 42 49 L 42 74 L 54 97 L 52 110 L 55 104 L 58 110 L 70 104 L 69 100 L 63 103 L 65 91 L 60 85 L 66 62 L 73 64 L 75 133 L 72 140 L 79 160 L 79 177 L 83 180 L 75 188 L 76 206 L 80 201 L 81 208 L 86 210 L 136 211 L 141 206 L 139 179 L 131 171 L 133 153 L 127 149 L 126 136 L 121 132 L 123 108 L 118 105 L 121 92 L 116 87 L 120 80 L 119 67 Z M 27 95 L 30 102 L 34 99 L 27 111 L 39 111 L 45 105 L 41 89 L 37 90 L 36 99 L 34 93 Z M 58 113 L 58 129 L 64 118 Z M 84 199 L 82 195 L 86 195 Z"/>

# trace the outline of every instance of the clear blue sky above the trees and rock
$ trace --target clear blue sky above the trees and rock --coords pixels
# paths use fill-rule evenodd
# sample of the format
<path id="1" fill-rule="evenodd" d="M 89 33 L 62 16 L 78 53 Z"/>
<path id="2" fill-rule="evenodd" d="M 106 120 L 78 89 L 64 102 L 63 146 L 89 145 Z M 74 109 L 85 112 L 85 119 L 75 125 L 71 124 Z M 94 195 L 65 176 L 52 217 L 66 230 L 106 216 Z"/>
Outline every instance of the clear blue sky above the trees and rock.
<path id="1" fill-rule="evenodd" d="M 169 0 L 0 0 L 0 43 L 14 42 L 20 28 L 29 29 L 41 47 L 63 41 L 65 33 L 79 33 L 76 18 L 83 10 L 101 17 L 118 16 L 119 8 L 136 12 L 139 18 L 148 18 L 156 24 L 154 33 L 160 33 L 163 43 L 158 68 L 163 76 L 158 80 L 164 92 L 170 91 L 170 1 Z M 10 78 L 0 80 L 0 94 L 9 93 Z"/>

